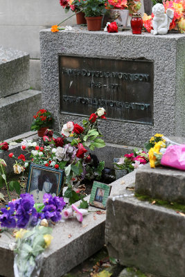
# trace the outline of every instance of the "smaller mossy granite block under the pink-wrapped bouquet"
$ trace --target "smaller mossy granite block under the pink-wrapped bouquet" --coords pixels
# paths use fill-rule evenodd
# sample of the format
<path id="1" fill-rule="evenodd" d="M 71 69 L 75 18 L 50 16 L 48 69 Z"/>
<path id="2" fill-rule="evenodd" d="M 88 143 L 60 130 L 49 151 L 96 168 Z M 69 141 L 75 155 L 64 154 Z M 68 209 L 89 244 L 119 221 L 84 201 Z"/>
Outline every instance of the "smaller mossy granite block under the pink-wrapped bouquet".
<path id="1" fill-rule="evenodd" d="M 136 172 L 136 193 L 185 204 L 185 171 L 142 166 Z"/>

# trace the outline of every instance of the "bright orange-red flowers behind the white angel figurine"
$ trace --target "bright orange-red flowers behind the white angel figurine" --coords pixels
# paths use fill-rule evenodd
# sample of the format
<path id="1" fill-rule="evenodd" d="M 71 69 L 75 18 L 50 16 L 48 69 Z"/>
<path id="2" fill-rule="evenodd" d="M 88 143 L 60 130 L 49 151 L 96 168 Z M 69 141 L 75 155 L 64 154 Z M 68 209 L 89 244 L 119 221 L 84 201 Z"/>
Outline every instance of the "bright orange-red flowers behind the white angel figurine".
<path id="1" fill-rule="evenodd" d="M 165 11 L 170 8 L 174 10 L 173 21 L 170 24 L 170 30 L 179 30 L 180 33 L 185 32 L 185 1 L 184 0 L 165 0 L 163 1 Z M 154 15 L 143 16 L 143 24 L 148 33 L 152 30 L 152 18 Z"/>

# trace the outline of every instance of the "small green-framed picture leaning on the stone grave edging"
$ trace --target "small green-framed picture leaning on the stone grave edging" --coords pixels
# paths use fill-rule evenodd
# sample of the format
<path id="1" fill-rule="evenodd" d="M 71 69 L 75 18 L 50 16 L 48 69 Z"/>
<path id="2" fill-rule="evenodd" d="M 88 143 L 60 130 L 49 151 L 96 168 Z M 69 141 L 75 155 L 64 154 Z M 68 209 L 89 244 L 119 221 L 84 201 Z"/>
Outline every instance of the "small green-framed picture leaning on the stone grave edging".
<path id="1" fill-rule="evenodd" d="M 97 208 L 106 208 L 107 198 L 109 197 L 112 186 L 94 181 L 91 190 L 89 204 Z"/>

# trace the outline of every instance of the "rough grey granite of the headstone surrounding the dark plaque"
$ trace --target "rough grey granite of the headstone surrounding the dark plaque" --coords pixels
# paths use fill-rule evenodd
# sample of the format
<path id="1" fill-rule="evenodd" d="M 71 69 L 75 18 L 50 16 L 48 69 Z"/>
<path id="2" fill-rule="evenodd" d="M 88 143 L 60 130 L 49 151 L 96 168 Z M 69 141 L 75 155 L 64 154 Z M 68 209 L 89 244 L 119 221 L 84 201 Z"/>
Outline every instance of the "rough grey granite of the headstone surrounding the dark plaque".
<path id="1" fill-rule="evenodd" d="M 130 30 L 109 34 L 103 31 L 89 32 L 87 28 L 53 34 L 47 29 L 40 32 L 40 48 L 42 105 L 54 112 L 61 127 L 69 120 L 78 123 L 82 117 L 60 114 L 59 54 L 153 62 L 153 125 L 124 120 L 100 120 L 100 130 L 107 143 L 143 147 L 143 143 L 158 132 L 166 136 L 185 134 L 184 35 L 132 35 Z M 96 111 L 96 106 L 94 110 Z M 58 120 L 56 123 L 58 127 Z"/>

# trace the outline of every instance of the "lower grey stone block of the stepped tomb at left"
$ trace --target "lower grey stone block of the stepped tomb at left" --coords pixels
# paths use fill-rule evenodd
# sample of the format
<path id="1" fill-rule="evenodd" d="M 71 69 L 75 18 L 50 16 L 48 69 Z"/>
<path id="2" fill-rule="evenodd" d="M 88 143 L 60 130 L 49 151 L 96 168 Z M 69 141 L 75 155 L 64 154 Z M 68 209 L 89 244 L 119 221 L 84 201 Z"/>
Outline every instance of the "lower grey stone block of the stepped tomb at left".
<path id="1" fill-rule="evenodd" d="M 29 89 L 0 98 L 0 141 L 30 131 L 33 115 L 42 107 L 41 95 Z"/>

